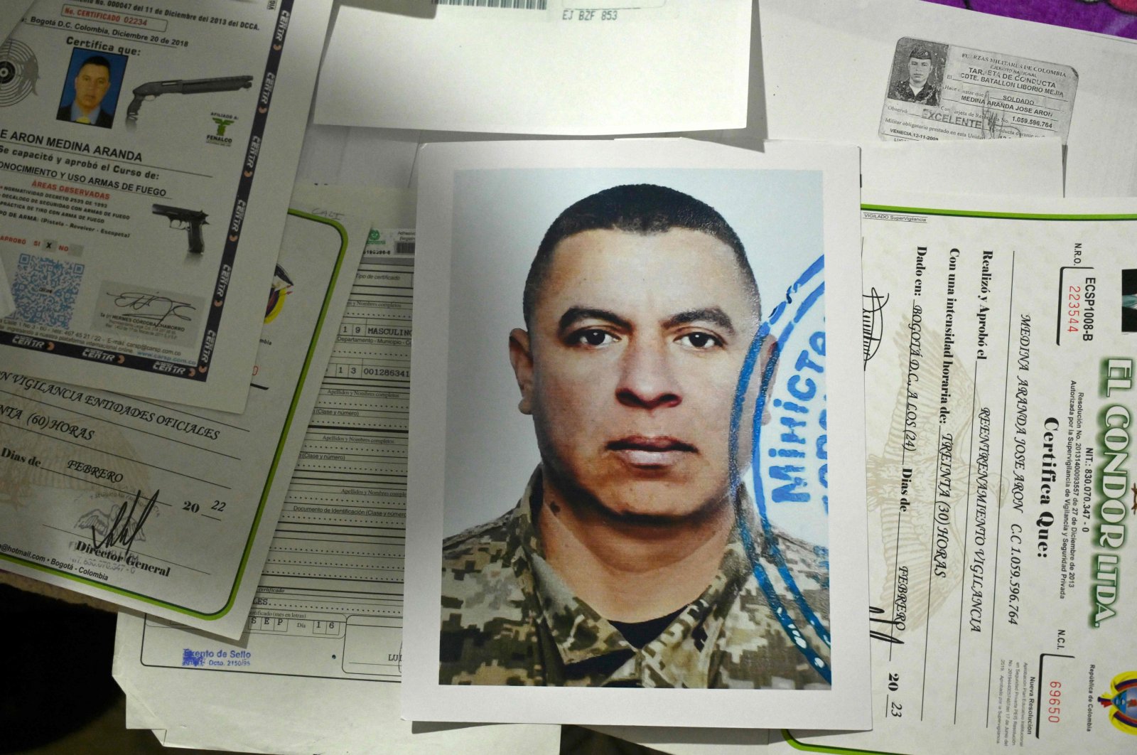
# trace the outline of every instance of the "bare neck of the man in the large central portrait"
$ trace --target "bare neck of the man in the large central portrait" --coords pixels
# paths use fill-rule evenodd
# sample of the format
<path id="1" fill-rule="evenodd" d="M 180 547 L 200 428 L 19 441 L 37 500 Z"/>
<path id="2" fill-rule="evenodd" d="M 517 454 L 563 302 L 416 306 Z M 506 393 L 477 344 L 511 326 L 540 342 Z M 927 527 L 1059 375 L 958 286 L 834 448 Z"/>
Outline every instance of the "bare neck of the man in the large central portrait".
<path id="1" fill-rule="evenodd" d="M 719 571 L 732 518 L 724 500 L 690 520 L 628 522 L 568 504 L 546 481 L 534 524 L 546 561 L 576 597 L 605 619 L 638 622 L 703 594 Z"/>

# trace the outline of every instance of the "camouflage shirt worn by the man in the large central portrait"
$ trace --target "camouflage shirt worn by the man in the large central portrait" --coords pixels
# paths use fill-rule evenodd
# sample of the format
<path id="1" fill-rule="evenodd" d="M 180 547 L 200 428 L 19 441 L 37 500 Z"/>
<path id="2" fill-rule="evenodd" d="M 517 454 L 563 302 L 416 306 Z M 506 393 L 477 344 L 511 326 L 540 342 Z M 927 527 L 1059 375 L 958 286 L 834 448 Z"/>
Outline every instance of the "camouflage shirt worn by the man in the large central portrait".
<path id="1" fill-rule="evenodd" d="M 753 504 L 744 498 L 744 511 Z M 823 689 L 750 569 L 738 525 L 703 594 L 642 648 L 575 597 L 543 558 L 533 525 L 541 506 L 538 467 L 517 507 L 448 538 L 442 553 L 443 685 Z M 828 665 L 829 648 L 791 596 L 790 575 L 828 634 L 828 550 L 774 531 L 753 515 L 767 589 Z M 775 563 L 780 553 L 781 565 Z M 816 663 L 816 662 L 814 662 Z"/>

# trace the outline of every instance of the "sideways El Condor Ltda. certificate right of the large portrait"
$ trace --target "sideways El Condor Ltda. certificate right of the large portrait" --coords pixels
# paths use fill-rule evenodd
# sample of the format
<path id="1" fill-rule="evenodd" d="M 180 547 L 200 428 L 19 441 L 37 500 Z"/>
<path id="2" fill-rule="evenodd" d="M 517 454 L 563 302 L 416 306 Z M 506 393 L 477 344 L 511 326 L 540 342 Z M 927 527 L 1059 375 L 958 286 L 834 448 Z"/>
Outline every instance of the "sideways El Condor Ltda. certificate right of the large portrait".
<path id="1" fill-rule="evenodd" d="M 796 745 L 1131 749 L 1137 202 L 872 201 L 873 731 Z"/>

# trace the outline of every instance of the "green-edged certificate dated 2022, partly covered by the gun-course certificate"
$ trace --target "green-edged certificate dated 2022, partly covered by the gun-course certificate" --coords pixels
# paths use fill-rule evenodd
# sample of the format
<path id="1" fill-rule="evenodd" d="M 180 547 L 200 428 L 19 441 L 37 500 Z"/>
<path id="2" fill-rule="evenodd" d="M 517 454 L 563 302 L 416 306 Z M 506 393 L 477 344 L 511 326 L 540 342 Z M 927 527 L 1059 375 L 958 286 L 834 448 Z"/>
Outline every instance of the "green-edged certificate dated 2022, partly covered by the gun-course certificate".
<path id="1" fill-rule="evenodd" d="M 363 251 L 360 225 L 288 216 L 258 291 L 243 415 L 0 370 L 0 567 L 240 636 Z"/>

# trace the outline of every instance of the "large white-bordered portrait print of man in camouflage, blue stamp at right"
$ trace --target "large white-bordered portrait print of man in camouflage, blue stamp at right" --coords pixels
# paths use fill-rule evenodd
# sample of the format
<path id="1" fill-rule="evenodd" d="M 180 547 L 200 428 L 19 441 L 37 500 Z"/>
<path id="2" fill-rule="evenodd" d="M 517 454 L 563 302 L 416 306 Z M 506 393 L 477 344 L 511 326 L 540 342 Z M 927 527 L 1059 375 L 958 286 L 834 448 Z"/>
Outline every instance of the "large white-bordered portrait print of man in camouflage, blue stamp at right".
<path id="1" fill-rule="evenodd" d="M 871 725 L 857 164 L 423 148 L 406 717 Z"/>

